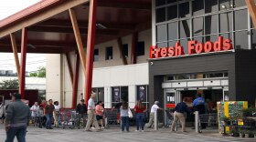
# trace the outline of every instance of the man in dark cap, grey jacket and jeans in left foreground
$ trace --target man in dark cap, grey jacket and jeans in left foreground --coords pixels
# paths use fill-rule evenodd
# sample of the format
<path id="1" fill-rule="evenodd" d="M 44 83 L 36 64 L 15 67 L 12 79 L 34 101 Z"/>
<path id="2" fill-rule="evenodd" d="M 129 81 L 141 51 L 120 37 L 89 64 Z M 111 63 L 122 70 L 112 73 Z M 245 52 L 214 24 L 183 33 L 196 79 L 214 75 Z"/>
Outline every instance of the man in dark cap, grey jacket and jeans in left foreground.
<path id="1" fill-rule="evenodd" d="M 18 142 L 26 142 L 27 120 L 30 117 L 29 106 L 20 99 L 20 94 L 12 94 L 12 102 L 6 108 L 5 142 L 13 142 L 15 137 Z"/>

